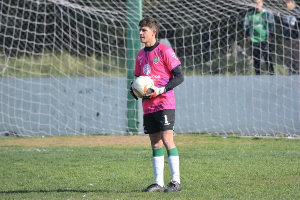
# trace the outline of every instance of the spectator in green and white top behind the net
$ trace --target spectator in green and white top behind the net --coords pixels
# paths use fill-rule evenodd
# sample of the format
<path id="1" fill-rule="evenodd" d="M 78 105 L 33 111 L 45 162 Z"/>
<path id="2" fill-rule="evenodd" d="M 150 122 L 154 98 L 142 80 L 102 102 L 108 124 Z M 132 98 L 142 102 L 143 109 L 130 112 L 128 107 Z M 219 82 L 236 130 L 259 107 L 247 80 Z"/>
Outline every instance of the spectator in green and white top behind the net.
<path id="1" fill-rule="evenodd" d="M 273 14 L 262 9 L 262 0 L 255 0 L 254 2 L 255 9 L 246 14 L 244 28 L 247 40 L 252 46 L 255 73 L 256 75 L 262 73 L 260 59 L 263 55 L 269 74 L 274 74 L 269 45 L 274 33 Z"/>

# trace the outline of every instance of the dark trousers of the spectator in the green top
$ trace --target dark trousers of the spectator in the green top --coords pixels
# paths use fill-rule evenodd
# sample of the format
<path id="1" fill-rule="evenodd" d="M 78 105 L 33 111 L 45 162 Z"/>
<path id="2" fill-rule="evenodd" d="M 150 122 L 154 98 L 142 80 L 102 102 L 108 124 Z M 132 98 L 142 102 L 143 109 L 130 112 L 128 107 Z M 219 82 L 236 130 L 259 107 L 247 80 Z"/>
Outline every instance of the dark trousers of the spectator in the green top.
<path id="1" fill-rule="evenodd" d="M 274 74 L 274 68 L 271 58 L 271 49 L 268 41 L 254 43 L 252 42 L 252 53 L 253 53 L 253 61 L 254 61 L 254 69 L 256 75 L 260 75 L 262 73 L 261 67 L 261 56 L 265 59 L 265 64 L 268 69 L 269 74 Z"/>

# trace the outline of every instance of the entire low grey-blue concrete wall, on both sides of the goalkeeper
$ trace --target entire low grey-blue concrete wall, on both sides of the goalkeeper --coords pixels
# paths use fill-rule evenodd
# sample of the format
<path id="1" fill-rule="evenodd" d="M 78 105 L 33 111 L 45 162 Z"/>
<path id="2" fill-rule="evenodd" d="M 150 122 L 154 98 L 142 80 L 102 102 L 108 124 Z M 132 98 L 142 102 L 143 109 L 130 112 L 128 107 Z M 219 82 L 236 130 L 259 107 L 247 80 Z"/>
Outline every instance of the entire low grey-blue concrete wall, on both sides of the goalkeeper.
<path id="1" fill-rule="evenodd" d="M 300 135 L 299 83 L 299 76 L 185 77 L 175 88 L 175 132 Z M 126 95 L 125 77 L 0 78 L 0 136 L 126 134 Z"/>

